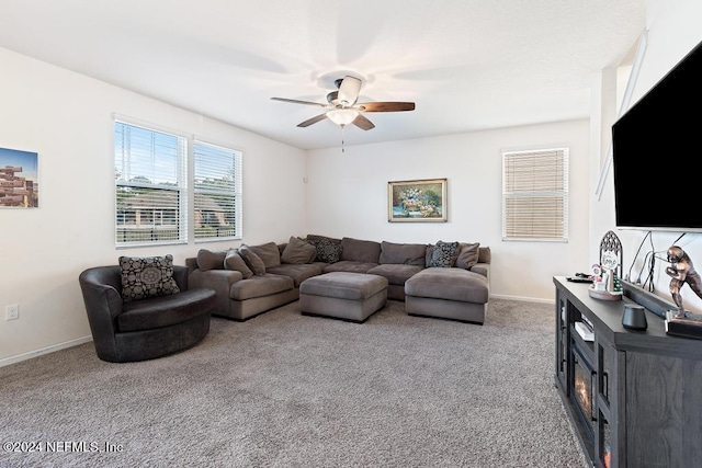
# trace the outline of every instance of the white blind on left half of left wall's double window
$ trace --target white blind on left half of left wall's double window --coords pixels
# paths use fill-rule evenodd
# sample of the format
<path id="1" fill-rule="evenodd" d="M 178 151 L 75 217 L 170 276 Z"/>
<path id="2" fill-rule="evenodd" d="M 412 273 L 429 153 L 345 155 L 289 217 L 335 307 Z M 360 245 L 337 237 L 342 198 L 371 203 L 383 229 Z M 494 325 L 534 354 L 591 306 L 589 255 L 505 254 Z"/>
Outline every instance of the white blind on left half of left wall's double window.
<path id="1" fill-rule="evenodd" d="M 115 122 L 117 246 L 186 240 L 186 151 L 181 136 Z"/>

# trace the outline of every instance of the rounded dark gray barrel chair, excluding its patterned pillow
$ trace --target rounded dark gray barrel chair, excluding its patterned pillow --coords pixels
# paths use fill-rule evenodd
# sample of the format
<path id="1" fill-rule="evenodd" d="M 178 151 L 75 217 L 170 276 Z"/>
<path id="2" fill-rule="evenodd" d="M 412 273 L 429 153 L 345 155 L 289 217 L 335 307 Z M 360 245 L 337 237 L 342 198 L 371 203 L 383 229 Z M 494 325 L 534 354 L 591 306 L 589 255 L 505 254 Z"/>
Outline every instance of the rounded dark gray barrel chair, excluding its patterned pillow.
<path id="1" fill-rule="evenodd" d="M 185 266 L 173 265 L 173 278 L 180 293 L 123 303 L 118 265 L 80 274 L 98 357 L 113 363 L 152 359 L 192 347 L 207 335 L 215 292 L 188 289 Z"/>

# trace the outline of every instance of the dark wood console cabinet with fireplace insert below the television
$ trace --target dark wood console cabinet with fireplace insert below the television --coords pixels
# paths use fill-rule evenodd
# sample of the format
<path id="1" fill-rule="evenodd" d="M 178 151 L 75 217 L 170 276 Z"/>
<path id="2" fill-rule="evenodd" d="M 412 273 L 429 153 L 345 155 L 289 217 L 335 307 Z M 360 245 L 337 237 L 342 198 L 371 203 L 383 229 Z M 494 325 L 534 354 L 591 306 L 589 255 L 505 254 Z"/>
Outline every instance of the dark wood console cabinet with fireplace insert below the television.
<path id="1" fill-rule="evenodd" d="M 591 298 L 587 283 L 554 284 L 555 384 L 592 465 L 702 466 L 702 340 L 666 334 L 659 316 L 672 306 L 633 285 L 612 301 Z M 626 301 L 646 308 L 647 330 L 622 326 Z"/>

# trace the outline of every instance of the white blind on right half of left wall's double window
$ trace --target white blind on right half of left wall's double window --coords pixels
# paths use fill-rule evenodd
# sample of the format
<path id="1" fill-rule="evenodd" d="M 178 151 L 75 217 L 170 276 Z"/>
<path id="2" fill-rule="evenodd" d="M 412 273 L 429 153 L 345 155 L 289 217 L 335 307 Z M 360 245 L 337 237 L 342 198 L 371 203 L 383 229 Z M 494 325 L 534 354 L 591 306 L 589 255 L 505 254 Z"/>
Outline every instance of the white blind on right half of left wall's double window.
<path id="1" fill-rule="evenodd" d="M 195 141 L 195 240 L 241 237 L 241 152 Z"/>

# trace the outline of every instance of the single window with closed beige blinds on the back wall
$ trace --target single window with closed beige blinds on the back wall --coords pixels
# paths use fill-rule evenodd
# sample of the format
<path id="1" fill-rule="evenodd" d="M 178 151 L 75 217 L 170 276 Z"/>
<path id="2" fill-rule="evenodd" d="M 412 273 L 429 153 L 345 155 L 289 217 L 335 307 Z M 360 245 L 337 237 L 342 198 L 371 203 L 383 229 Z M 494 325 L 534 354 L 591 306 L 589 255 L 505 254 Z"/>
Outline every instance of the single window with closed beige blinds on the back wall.
<path id="1" fill-rule="evenodd" d="M 568 239 L 568 149 L 502 152 L 502 239 Z"/>

